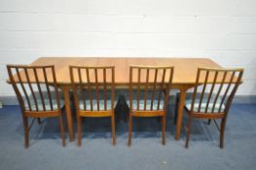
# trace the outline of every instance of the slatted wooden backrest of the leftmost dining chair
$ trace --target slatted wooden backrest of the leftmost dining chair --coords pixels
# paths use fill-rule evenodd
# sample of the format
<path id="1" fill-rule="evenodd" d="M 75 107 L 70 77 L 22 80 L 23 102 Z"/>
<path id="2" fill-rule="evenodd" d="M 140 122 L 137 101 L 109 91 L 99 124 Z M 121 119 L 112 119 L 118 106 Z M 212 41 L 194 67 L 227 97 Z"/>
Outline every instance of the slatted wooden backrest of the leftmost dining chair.
<path id="1" fill-rule="evenodd" d="M 54 65 L 7 65 L 7 70 L 23 112 L 60 110 Z"/>

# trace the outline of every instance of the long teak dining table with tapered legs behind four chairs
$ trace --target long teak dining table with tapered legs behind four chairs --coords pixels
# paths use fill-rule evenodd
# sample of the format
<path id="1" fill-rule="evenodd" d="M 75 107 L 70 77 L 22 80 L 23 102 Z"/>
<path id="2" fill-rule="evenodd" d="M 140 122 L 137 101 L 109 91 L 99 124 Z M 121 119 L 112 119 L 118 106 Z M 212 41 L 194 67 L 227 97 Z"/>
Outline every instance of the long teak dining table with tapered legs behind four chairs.
<path id="1" fill-rule="evenodd" d="M 74 140 L 73 121 L 70 108 L 69 91 L 72 88 L 69 76 L 69 65 L 115 66 L 116 88 L 128 88 L 129 66 L 174 66 L 172 88 L 180 90 L 175 139 L 179 140 L 183 117 L 183 108 L 187 90 L 196 83 L 199 67 L 221 68 L 209 58 L 146 58 L 146 57 L 40 57 L 31 65 L 55 65 L 56 82 L 61 88 L 67 117 L 70 141 Z"/>

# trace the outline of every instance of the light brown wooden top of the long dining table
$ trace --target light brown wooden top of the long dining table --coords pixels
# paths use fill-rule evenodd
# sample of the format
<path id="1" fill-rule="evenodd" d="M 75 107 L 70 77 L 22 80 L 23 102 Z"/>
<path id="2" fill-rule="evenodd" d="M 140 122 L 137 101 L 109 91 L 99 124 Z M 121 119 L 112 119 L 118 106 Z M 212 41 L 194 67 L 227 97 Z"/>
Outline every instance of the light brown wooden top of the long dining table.
<path id="1" fill-rule="evenodd" d="M 129 66 L 174 66 L 173 84 L 193 85 L 199 67 L 221 68 L 209 58 L 40 57 L 31 65 L 55 65 L 59 85 L 70 85 L 69 65 L 115 66 L 116 85 L 128 85 Z"/>

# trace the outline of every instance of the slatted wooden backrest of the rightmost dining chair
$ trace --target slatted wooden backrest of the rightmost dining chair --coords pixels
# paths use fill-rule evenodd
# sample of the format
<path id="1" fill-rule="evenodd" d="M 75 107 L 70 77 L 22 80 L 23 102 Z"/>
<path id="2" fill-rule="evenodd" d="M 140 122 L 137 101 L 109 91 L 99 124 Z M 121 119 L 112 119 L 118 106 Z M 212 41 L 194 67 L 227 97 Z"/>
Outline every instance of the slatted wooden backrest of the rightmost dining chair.
<path id="1" fill-rule="evenodd" d="M 192 96 L 195 113 L 228 113 L 243 69 L 199 68 Z"/>

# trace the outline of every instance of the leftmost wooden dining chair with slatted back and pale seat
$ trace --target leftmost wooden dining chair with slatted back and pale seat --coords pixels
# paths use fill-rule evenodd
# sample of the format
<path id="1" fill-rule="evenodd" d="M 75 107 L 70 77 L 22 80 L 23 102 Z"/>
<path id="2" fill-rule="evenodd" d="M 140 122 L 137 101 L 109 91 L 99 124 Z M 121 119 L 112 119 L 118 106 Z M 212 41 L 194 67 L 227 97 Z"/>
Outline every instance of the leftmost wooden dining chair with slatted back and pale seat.
<path id="1" fill-rule="evenodd" d="M 56 85 L 55 66 L 7 65 L 10 82 L 18 97 L 24 127 L 24 147 L 29 147 L 29 130 L 34 119 L 58 117 L 65 146 L 65 135 L 62 123 L 63 102 L 60 100 Z M 28 119 L 33 119 L 28 123 Z"/>

